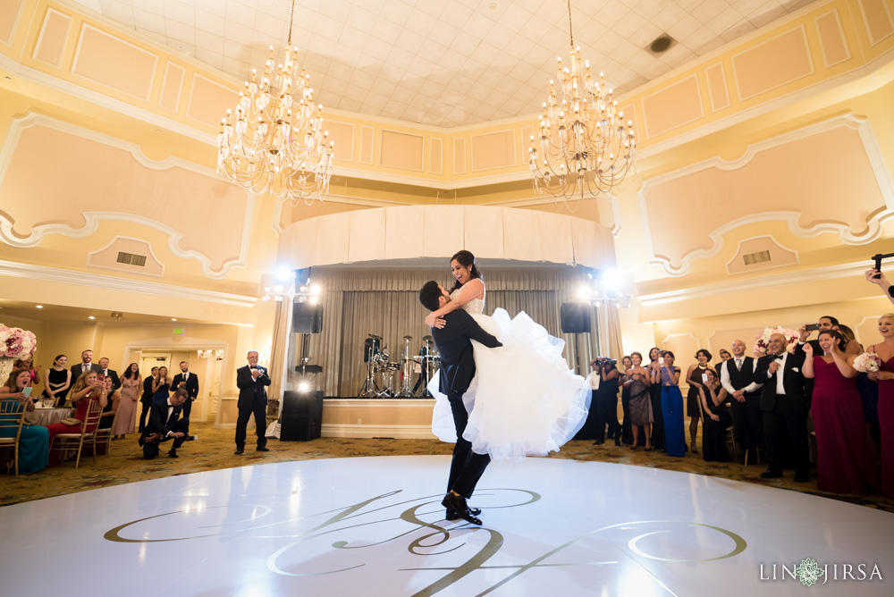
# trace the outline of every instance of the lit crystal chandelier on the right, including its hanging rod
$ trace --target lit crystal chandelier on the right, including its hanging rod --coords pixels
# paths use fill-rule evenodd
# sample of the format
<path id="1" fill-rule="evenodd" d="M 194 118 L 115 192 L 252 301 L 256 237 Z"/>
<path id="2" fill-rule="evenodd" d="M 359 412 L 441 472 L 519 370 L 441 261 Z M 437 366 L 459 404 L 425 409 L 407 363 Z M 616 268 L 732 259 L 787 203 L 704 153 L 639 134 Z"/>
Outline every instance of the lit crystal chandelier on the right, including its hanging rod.
<path id="1" fill-rule="evenodd" d="M 595 81 L 590 63 L 581 62 L 571 31 L 571 2 L 568 2 L 571 38 L 570 69 L 559 58 L 557 80 L 540 116 L 540 143 L 531 136 L 530 166 L 535 189 L 544 188 L 556 198 L 569 199 L 578 192 L 596 197 L 623 181 L 635 161 L 637 144 L 633 122 L 624 123 L 624 113 L 611 98 L 604 74 Z M 541 157 L 538 164 L 538 156 Z"/>

